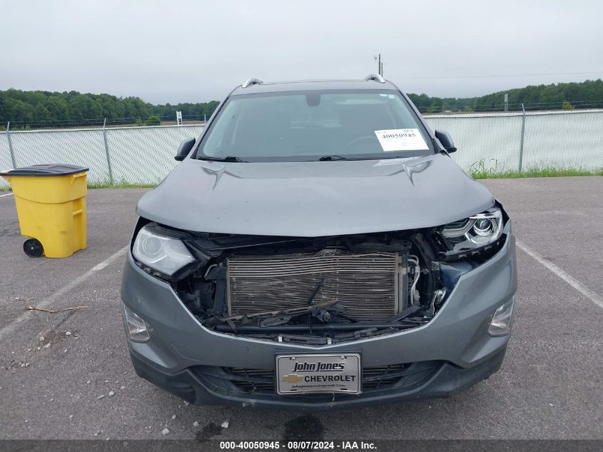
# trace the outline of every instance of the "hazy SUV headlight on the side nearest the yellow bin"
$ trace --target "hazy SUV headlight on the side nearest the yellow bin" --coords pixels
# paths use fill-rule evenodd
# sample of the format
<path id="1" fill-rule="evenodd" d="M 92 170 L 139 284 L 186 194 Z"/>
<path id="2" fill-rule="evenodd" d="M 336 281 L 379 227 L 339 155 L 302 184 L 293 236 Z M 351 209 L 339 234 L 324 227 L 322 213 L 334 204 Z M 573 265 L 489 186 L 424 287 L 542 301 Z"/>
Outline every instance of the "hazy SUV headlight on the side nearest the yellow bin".
<path id="1" fill-rule="evenodd" d="M 146 226 L 138 231 L 132 254 L 143 266 L 167 276 L 172 276 L 188 263 L 195 261 L 178 238 L 151 232 Z"/>

